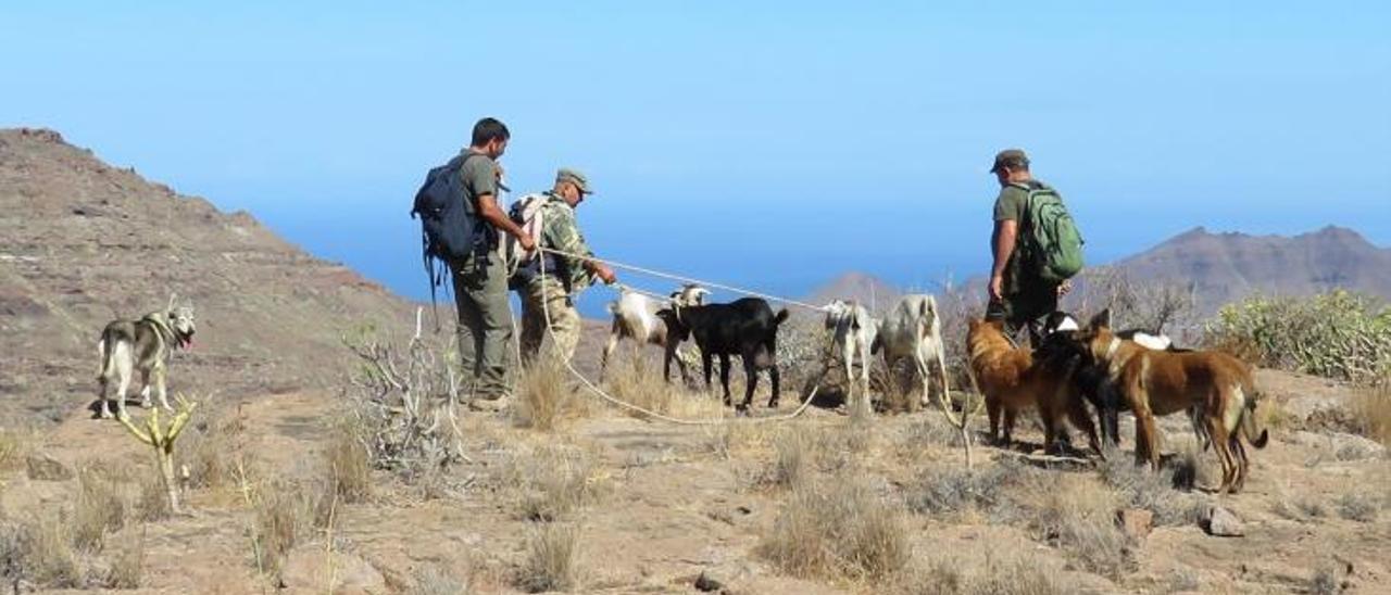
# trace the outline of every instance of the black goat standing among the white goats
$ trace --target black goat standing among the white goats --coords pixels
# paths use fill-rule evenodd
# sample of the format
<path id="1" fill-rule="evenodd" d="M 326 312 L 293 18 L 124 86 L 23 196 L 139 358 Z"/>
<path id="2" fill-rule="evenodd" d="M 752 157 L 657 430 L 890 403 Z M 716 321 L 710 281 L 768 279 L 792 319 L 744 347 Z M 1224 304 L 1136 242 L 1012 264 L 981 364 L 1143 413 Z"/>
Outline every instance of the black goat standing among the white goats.
<path id="1" fill-rule="evenodd" d="M 747 381 L 744 402 L 737 409 L 747 411 L 753 403 L 759 370 L 768 370 L 773 382 L 773 396 L 768 399 L 768 406 L 778 406 L 780 382 L 778 377 L 778 327 L 787 320 L 787 310 L 778 310 L 773 314 L 768 302 L 758 298 L 744 298 L 730 303 L 666 309 L 658 316 L 668 324 L 672 345 L 687 336 L 696 338 L 705 370 L 705 386 L 709 386 L 711 382 L 712 360 L 719 356 L 719 382 L 725 388 L 725 405 L 730 405 L 729 356 L 740 356 L 744 360 Z"/>

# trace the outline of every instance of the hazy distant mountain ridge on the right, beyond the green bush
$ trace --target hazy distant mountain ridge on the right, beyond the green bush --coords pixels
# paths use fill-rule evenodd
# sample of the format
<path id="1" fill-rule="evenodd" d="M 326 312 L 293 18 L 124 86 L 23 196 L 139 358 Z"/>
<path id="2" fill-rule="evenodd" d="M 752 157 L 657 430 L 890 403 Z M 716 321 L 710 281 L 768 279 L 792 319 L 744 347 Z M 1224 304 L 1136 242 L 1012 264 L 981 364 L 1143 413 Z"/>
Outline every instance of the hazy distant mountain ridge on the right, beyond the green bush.
<path id="1" fill-rule="evenodd" d="M 1296 236 L 1193 228 L 1113 264 L 1132 279 L 1192 284 L 1200 310 L 1260 292 L 1303 296 L 1334 288 L 1391 299 L 1391 250 L 1326 227 Z"/>

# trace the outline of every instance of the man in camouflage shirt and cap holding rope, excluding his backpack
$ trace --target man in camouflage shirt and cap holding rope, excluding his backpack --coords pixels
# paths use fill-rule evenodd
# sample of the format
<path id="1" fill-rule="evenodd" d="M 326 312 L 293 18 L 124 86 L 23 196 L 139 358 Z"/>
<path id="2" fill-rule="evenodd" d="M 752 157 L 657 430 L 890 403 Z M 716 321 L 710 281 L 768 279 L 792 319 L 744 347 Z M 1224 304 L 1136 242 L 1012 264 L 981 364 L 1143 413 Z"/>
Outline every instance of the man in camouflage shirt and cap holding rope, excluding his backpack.
<path id="1" fill-rule="evenodd" d="M 541 229 L 537 245 L 566 254 L 593 257 L 590 246 L 580 234 L 574 209 L 593 195 L 588 178 L 579 170 L 561 168 L 555 174 L 555 186 L 541 195 Z M 545 274 L 541 260 L 545 259 Z M 594 277 L 605 284 L 616 278 L 604 263 L 573 256 L 542 252 L 531 259 L 513 277 L 513 286 L 522 293 L 522 360 L 531 361 L 541 350 L 547 335 L 547 313 L 551 318 L 551 332 L 555 354 L 569 360 L 580 341 L 580 314 L 574 310 L 573 296 L 588 286 Z"/>

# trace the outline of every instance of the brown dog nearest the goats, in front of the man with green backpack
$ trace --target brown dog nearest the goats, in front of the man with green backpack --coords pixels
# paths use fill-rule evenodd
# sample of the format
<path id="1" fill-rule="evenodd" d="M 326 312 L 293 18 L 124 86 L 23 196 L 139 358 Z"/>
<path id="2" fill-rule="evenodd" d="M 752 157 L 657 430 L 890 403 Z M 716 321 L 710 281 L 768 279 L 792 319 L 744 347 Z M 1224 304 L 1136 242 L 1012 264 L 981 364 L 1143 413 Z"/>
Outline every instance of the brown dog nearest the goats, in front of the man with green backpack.
<path id="1" fill-rule="evenodd" d="M 999 438 L 1000 414 L 1004 414 L 1004 443 L 1010 443 L 1014 418 L 1021 409 L 1038 407 L 1043 420 L 1045 449 L 1053 448 L 1061 417 L 1086 432 L 1093 450 L 1102 455 L 1096 427 L 1082 405 L 1071 380 L 1075 367 L 1057 370 L 1034 361 L 1027 349 L 1017 349 L 1004 336 L 1000 321 L 971 320 L 965 336 L 971 373 L 985 393 L 990 416 L 990 439 Z M 1102 455 L 1103 456 L 1103 455 Z"/>

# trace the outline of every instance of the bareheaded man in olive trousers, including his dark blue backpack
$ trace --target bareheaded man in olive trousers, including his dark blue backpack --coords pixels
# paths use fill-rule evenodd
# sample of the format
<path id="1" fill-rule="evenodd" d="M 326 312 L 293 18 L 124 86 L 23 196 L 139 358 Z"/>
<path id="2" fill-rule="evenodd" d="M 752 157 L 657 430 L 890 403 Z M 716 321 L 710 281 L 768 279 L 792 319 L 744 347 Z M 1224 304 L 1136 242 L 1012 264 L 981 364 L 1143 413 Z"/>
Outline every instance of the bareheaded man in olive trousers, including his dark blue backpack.
<path id="1" fill-rule="evenodd" d="M 444 270 L 437 263 L 444 263 L 453 282 L 459 363 L 472 395 L 469 405 L 479 410 L 504 407 L 508 393 L 512 306 L 506 264 L 498 252 L 499 232 L 516 238 L 524 249 L 534 247 L 498 206 L 498 189 L 506 186 L 497 160 L 510 136 L 502 122 L 479 120 L 469 147 L 430 171 L 412 210 L 421 222 L 431 295 L 442 281 Z"/>

